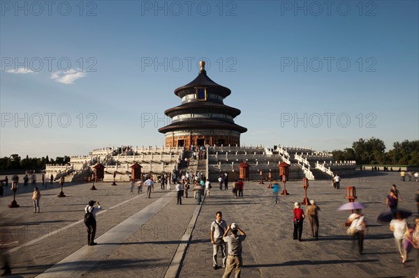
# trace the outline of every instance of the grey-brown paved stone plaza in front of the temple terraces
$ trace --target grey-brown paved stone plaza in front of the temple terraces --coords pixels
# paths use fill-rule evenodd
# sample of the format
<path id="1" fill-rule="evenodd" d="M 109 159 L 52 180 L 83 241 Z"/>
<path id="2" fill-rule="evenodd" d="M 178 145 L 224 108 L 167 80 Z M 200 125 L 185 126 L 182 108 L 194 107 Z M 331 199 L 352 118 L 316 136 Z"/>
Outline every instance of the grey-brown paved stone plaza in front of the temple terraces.
<path id="1" fill-rule="evenodd" d="M 47 187 L 38 183 L 41 213 L 36 214 L 33 187 L 20 185 L 16 198 L 20 208 L 8 208 L 11 190 L 5 188 L 0 198 L 1 237 L 18 241 L 7 251 L 11 277 L 221 277 L 223 269 L 212 269 L 210 243 L 210 224 L 221 210 L 223 219 L 237 222 L 247 233 L 242 277 L 414 277 L 415 252 L 402 268 L 392 232 L 376 217 L 387 209 L 385 196 L 392 183 L 402 194 L 399 206 L 416 216 L 418 183 L 402 183 L 397 172 L 358 171 L 357 175 L 343 179 L 340 190 L 329 181 L 310 182 L 309 199 L 321 208 L 318 241 L 309 238 L 308 222 L 303 241 L 292 239 L 293 203 L 304 198 L 301 181 L 288 182 L 290 195 L 280 196 L 278 204 L 273 203 L 267 183 L 245 183 L 243 199 L 233 199 L 230 191 L 220 191 L 213 183 L 202 206 L 196 206 L 193 192 L 177 206 L 174 186 L 161 191 L 156 184 L 152 198 L 146 199 L 136 188 L 130 194 L 128 183 L 98 183 L 96 191 L 89 190 L 91 183 L 66 183 L 66 197 L 58 198 L 57 183 Z M 351 249 L 343 226 L 350 212 L 337 210 L 346 202 L 348 185 L 357 188 L 358 201 L 368 206 L 363 210 L 369 229 L 362 256 Z M 93 247 L 86 245 L 82 222 L 91 199 L 105 209 L 98 213 L 98 245 Z"/>

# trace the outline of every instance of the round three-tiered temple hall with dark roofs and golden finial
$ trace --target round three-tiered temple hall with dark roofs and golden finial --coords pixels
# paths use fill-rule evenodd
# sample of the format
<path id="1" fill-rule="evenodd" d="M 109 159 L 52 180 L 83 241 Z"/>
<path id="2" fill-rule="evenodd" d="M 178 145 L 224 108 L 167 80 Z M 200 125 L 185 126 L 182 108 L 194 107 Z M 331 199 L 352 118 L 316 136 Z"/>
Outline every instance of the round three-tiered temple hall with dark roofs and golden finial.
<path id="1" fill-rule="evenodd" d="M 164 112 L 172 118 L 170 125 L 159 129 L 166 134 L 166 147 L 240 146 L 240 134 L 247 128 L 234 123 L 240 110 L 223 104 L 230 93 L 229 88 L 207 77 L 205 61 L 200 61 L 198 77 L 175 90 L 182 105 Z"/>

